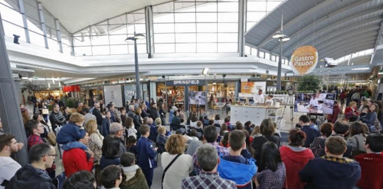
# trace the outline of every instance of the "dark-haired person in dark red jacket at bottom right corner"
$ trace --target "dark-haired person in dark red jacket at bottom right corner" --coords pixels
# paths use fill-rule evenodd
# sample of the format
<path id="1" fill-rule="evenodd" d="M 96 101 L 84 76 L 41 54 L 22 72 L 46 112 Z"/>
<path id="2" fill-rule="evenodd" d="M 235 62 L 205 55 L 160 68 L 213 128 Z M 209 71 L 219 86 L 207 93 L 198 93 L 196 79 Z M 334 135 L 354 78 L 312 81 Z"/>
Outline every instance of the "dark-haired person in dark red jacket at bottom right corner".
<path id="1" fill-rule="evenodd" d="M 365 148 L 367 154 L 355 157 L 362 169 L 362 176 L 357 186 L 361 189 L 383 188 L 383 135 L 371 134 L 367 136 Z"/>

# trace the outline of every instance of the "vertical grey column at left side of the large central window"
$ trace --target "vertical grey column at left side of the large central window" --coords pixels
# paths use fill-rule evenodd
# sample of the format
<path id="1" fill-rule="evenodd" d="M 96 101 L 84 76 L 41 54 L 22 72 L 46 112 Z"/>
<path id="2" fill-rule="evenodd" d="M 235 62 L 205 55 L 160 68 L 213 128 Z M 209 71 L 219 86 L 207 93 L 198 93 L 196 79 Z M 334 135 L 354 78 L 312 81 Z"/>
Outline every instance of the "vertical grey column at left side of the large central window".
<path id="1" fill-rule="evenodd" d="M 146 52 L 148 58 L 153 58 L 154 54 L 154 38 L 153 38 L 153 8 L 145 7 L 145 27 L 146 27 Z"/>

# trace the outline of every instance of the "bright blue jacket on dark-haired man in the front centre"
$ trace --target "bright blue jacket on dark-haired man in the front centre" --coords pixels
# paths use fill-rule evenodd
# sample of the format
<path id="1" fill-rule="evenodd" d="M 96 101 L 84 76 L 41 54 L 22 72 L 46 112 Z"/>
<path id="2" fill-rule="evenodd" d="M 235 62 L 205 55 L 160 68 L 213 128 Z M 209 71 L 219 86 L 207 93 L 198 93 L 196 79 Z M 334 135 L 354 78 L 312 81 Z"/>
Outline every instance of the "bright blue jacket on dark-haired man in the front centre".
<path id="1" fill-rule="evenodd" d="M 247 159 L 247 164 L 227 161 L 221 157 L 219 160 L 217 168 L 219 176 L 235 182 L 236 185 L 246 185 L 249 183 L 258 170 L 255 165 L 256 161 L 253 158 Z"/>

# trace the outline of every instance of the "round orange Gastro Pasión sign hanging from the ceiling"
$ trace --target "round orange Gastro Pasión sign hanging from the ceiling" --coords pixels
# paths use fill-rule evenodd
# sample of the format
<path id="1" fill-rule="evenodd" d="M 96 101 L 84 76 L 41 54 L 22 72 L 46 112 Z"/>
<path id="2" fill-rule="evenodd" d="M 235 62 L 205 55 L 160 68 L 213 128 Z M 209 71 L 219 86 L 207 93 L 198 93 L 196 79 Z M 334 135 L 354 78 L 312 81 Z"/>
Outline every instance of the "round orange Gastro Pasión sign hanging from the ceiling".
<path id="1" fill-rule="evenodd" d="M 291 69 L 298 75 L 309 74 L 317 63 L 318 51 L 313 46 L 299 47 L 291 55 Z"/>

